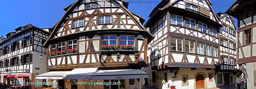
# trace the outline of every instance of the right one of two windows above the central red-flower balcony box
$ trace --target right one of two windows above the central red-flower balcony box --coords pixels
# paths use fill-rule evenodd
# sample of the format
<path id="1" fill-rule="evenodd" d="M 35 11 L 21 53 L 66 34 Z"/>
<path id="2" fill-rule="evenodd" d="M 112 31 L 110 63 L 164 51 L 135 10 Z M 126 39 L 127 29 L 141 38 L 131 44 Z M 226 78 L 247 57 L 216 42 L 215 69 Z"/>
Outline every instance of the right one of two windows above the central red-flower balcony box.
<path id="1" fill-rule="evenodd" d="M 134 45 L 134 41 L 134 36 L 120 35 L 120 45 Z"/>

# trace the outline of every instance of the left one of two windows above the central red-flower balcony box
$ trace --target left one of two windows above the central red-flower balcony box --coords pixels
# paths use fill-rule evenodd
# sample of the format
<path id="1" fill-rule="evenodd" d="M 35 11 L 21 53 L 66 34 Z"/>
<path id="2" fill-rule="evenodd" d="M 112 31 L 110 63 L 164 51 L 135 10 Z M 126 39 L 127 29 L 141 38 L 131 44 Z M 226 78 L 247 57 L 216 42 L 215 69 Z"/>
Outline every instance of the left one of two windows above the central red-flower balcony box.
<path id="1" fill-rule="evenodd" d="M 115 45 L 115 44 L 117 44 L 116 42 L 117 42 L 116 35 L 103 35 L 102 36 L 102 45 Z"/>

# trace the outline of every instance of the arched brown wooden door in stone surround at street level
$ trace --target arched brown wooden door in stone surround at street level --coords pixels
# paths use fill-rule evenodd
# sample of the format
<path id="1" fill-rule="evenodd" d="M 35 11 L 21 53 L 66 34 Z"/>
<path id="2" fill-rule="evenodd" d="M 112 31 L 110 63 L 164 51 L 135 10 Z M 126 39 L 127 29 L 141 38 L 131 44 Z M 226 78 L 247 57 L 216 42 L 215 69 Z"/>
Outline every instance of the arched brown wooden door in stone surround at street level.
<path id="1" fill-rule="evenodd" d="M 196 89 L 204 89 L 205 88 L 205 78 L 202 74 L 198 74 L 196 76 Z"/>

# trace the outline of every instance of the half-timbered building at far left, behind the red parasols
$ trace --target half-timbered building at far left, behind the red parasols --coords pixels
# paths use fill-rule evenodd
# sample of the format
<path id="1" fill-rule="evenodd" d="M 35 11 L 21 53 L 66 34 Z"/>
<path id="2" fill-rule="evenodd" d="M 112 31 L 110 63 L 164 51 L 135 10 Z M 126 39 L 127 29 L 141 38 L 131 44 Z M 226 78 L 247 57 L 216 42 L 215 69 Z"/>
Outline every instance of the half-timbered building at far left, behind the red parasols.
<path id="1" fill-rule="evenodd" d="M 6 84 L 27 84 L 36 82 L 35 76 L 46 71 L 46 48 L 43 43 L 50 36 L 50 28 L 38 28 L 32 24 L 21 26 L 6 34 L 6 39 L 0 43 L 0 81 Z M 44 55 L 43 60 L 39 56 Z M 26 78 L 8 78 L 24 74 Z M 19 82 L 17 82 L 19 81 Z M 38 80 L 42 82 L 42 80 Z M 29 89 L 40 88 L 42 85 L 29 85 Z"/>

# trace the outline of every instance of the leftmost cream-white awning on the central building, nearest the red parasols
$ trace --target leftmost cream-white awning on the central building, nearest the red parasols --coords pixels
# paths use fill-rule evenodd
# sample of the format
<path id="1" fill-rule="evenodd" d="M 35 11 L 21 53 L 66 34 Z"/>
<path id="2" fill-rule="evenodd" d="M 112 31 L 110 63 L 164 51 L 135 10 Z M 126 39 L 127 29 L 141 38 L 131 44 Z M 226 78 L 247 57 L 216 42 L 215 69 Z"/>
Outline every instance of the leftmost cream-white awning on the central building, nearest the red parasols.
<path id="1" fill-rule="evenodd" d="M 63 75 L 70 73 L 71 71 L 50 71 L 44 74 L 37 75 L 36 79 L 55 79 L 62 80 Z"/>

